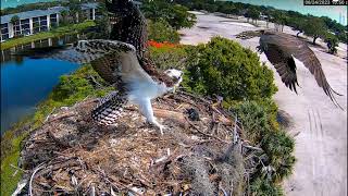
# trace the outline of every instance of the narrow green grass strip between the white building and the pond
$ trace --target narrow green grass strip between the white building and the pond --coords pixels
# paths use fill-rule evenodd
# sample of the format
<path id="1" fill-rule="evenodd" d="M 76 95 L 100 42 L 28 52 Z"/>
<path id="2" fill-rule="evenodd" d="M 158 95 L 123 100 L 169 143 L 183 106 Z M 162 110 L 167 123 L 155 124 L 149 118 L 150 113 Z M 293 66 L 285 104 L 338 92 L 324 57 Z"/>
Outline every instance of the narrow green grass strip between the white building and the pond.
<path id="1" fill-rule="evenodd" d="M 35 35 L 30 35 L 30 36 L 13 38 L 8 41 L 1 42 L 0 46 L 1 46 L 1 50 L 4 50 L 4 49 L 15 47 L 17 45 L 24 45 L 35 40 L 47 39 L 51 37 L 69 35 L 69 34 L 76 34 L 79 30 L 83 30 L 87 27 L 95 26 L 95 25 L 96 23 L 94 21 L 85 21 L 84 23 L 79 23 L 79 24 L 72 24 L 72 25 L 58 27 L 50 32 L 42 32 Z"/>

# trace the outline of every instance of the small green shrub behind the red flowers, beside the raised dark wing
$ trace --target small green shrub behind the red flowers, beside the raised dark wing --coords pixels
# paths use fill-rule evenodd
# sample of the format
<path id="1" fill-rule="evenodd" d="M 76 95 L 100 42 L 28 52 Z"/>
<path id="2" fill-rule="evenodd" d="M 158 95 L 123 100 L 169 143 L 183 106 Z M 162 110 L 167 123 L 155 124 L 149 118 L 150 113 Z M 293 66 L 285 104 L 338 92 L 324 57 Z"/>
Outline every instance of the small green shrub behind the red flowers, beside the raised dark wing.
<path id="1" fill-rule="evenodd" d="M 158 42 L 175 44 L 181 40 L 179 34 L 165 20 L 148 21 L 148 33 L 149 39 Z"/>

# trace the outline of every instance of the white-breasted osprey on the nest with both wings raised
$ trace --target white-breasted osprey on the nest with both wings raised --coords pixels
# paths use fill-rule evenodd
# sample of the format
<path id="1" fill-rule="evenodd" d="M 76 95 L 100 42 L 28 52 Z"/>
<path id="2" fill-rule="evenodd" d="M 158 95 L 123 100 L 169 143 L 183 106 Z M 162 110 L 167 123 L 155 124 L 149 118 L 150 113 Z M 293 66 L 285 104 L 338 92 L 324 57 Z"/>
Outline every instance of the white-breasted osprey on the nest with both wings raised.
<path id="1" fill-rule="evenodd" d="M 91 117 L 99 124 L 113 124 L 123 106 L 137 105 L 147 121 L 160 128 L 153 117 L 151 99 L 175 91 L 182 71 L 159 72 L 146 57 L 147 27 L 139 9 L 129 0 L 107 0 L 111 23 L 110 39 L 79 40 L 74 46 L 36 48 L 18 54 L 30 58 L 53 58 L 76 63 L 90 62 L 94 70 L 117 91 L 99 101 Z"/>

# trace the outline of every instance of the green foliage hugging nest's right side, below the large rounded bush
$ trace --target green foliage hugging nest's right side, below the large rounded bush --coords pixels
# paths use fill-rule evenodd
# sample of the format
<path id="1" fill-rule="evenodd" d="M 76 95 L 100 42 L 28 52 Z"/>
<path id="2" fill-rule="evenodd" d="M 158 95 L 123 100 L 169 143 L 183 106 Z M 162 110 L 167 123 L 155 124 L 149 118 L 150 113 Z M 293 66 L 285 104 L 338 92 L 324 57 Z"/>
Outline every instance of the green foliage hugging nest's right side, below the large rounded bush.
<path id="1" fill-rule="evenodd" d="M 266 102 L 269 103 L 265 105 Z M 246 138 L 253 145 L 260 145 L 264 150 L 268 159 L 263 164 L 274 169 L 271 180 L 277 183 L 293 172 L 296 161 L 291 155 L 295 149 L 295 140 L 285 131 L 273 125 L 276 115 L 270 112 L 273 110 L 272 105 L 274 103 L 271 100 L 244 101 L 235 106 L 233 110 L 244 126 Z M 259 174 L 264 175 L 261 171 Z"/>

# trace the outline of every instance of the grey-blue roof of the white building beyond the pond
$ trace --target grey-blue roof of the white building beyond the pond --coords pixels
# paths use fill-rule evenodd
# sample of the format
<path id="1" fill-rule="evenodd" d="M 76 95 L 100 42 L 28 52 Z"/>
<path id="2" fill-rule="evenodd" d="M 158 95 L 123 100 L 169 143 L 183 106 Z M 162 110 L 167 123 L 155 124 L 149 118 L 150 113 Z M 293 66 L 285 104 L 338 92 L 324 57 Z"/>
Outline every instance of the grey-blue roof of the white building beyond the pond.
<path id="1" fill-rule="evenodd" d="M 98 7 L 97 2 L 82 4 L 83 10 L 96 9 L 97 7 Z M 1 21 L 1 24 L 4 24 L 4 23 L 10 23 L 11 19 L 14 15 L 17 15 L 20 17 L 20 20 L 25 20 L 25 19 L 29 19 L 29 17 L 38 17 L 38 16 L 42 16 L 42 15 L 50 15 L 50 14 L 54 14 L 54 13 L 60 13 L 63 10 L 69 10 L 69 9 L 64 8 L 64 7 L 53 7 L 53 8 L 47 9 L 47 10 L 32 10 L 32 11 L 15 13 L 15 14 L 3 15 L 3 16 L 1 16 L 0 21 Z"/>

